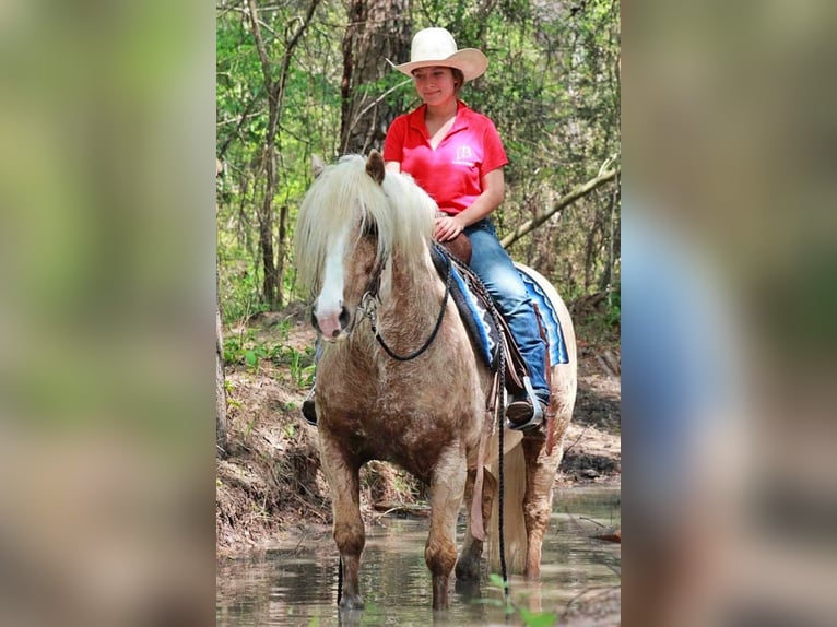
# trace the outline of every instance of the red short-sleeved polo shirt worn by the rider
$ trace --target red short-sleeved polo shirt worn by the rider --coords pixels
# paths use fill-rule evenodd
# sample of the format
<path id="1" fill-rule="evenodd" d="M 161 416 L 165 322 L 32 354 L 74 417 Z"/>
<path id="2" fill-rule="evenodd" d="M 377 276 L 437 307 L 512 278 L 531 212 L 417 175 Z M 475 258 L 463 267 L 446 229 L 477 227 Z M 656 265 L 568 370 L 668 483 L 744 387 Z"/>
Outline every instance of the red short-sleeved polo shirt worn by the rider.
<path id="1" fill-rule="evenodd" d="M 482 193 L 482 176 L 508 163 L 494 122 L 458 104 L 453 126 L 435 150 L 424 126 L 426 105 L 396 118 L 384 142 L 384 161 L 399 162 L 450 214 L 471 206 Z"/>

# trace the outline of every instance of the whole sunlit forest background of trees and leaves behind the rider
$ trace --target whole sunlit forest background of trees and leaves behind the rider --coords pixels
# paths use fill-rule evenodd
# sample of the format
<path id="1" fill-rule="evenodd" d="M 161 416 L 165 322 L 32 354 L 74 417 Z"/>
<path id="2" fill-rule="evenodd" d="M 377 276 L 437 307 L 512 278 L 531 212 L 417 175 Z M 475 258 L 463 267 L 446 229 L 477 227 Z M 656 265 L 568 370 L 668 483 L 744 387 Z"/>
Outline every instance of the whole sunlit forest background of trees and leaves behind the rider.
<path id="1" fill-rule="evenodd" d="M 381 150 L 418 103 L 387 59 L 448 28 L 490 59 L 462 98 L 491 117 L 510 164 L 494 220 L 512 258 L 569 303 L 620 305 L 620 22 L 614 0 L 219 0 L 217 264 L 225 324 L 284 308 L 311 156 Z M 227 357 L 235 357 L 227 352 Z"/>

